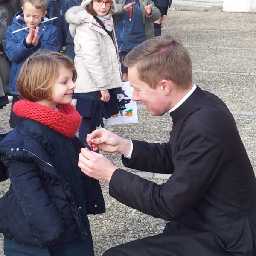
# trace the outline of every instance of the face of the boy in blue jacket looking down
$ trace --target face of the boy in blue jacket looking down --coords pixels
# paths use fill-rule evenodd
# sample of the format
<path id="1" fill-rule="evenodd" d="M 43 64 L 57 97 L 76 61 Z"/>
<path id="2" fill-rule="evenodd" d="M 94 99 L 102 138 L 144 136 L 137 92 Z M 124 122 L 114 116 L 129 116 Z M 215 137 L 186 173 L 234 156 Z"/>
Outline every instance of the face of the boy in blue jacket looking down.
<path id="1" fill-rule="evenodd" d="M 42 17 L 44 17 L 47 12 L 43 12 L 41 9 L 36 9 L 35 6 L 26 1 L 22 7 L 24 13 L 24 20 L 29 29 L 35 29 L 40 23 Z"/>

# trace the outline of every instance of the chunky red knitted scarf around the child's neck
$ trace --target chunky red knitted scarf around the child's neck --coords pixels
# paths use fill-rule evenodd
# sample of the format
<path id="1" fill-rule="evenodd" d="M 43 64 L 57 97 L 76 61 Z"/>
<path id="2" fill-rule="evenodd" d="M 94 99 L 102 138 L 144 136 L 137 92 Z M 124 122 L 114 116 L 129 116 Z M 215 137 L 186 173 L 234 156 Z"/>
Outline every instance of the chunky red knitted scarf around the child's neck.
<path id="1" fill-rule="evenodd" d="M 57 108 L 58 111 L 28 100 L 20 100 L 13 105 L 17 116 L 35 120 L 67 137 L 74 137 L 81 116 L 71 104 L 59 104 Z"/>

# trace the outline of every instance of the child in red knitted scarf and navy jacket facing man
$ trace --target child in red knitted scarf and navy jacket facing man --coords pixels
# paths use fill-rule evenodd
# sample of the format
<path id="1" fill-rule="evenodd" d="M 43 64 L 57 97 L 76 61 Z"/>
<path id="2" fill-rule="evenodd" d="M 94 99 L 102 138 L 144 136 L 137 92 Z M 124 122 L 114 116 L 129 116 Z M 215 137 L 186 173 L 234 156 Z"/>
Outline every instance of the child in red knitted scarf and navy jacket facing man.
<path id="1" fill-rule="evenodd" d="M 87 214 L 105 212 L 98 181 L 77 167 L 81 122 L 70 104 L 77 73 L 58 52 L 31 55 L 14 112 L 25 120 L 0 142 L 11 186 L 0 199 L 6 256 L 93 256 Z M 4 170 L 1 170 L 3 177 Z"/>

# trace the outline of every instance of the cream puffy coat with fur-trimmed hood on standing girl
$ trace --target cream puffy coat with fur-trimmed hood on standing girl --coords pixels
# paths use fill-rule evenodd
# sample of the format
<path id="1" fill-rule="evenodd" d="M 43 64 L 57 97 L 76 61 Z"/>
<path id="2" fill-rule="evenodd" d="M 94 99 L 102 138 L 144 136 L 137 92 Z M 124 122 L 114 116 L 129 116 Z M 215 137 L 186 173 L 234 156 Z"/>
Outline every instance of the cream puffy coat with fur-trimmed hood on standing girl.
<path id="1" fill-rule="evenodd" d="M 114 43 L 96 19 L 81 6 L 73 6 L 66 12 L 70 34 L 74 38 L 75 67 L 78 78 L 75 93 L 89 93 L 121 87 L 116 35 Z"/>

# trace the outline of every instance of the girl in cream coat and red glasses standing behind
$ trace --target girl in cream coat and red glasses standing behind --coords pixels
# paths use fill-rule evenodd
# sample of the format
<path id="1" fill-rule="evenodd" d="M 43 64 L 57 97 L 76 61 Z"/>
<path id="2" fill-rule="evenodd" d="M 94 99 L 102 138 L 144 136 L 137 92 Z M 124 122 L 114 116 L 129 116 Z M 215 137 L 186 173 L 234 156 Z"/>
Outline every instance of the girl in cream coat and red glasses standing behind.
<path id="1" fill-rule="evenodd" d="M 103 117 L 118 113 L 116 94 L 121 93 L 122 80 L 113 29 L 115 10 L 114 0 L 85 0 L 66 12 L 74 37 L 76 109 L 83 116 L 79 139 L 84 143 L 96 126 L 103 127 Z"/>

